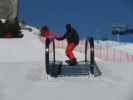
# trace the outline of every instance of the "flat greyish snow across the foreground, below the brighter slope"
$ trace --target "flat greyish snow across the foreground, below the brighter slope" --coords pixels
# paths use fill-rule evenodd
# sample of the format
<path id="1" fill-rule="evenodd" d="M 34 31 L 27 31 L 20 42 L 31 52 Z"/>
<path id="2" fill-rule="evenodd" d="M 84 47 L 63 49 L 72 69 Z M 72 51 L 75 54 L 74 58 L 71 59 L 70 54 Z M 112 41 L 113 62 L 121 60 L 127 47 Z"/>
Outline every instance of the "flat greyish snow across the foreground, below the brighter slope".
<path id="1" fill-rule="evenodd" d="M 101 64 L 101 63 L 100 63 Z M 106 65 L 106 66 L 105 66 Z M 31 69 L 24 65 L 0 67 L 0 93 L 1 100 L 131 100 L 132 95 L 132 70 L 125 65 L 104 63 L 101 67 L 103 76 L 94 80 L 88 77 L 51 78 L 49 80 L 36 79 L 38 74 L 30 72 Z M 32 65 L 30 65 L 33 67 Z M 113 72 L 112 67 L 118 67 Z M 104 67 L 107 67 L 104 69 Z M 129 67 L 129 68 L 128 68 Z M 125 70 L 118 73 L 121 70 Z M 103 70 L 104 69 L 104 70 Z M 113 73 L 111 73 L 113 72 Z M 128 73 L 129 72 L 129 73 Z M 130 95 L 129 95 L 130 94 Z"/>

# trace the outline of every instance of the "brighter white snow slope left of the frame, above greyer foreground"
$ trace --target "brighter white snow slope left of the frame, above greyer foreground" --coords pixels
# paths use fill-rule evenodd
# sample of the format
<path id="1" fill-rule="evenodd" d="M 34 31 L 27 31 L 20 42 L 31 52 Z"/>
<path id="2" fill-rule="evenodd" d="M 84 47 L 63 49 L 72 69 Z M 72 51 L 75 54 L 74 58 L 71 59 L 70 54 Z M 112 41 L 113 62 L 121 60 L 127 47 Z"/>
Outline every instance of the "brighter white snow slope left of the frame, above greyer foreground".
<path id="1" fill-rule="evenodd" d="M 22 39 L 0 39 L 0 62 L 40 61 L 44 45 L 33 32 L 23 31 Z"/>

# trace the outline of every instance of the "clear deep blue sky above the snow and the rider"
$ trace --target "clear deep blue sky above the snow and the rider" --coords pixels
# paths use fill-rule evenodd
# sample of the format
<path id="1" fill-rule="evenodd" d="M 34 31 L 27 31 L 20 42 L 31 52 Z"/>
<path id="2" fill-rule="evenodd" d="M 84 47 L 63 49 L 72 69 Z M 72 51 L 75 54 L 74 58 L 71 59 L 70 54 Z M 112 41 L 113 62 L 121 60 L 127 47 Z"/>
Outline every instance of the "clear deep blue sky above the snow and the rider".
<path id="1" fill-rule="evenodd" d="M 51 31 L 64 32 L 71 23 L 81 37 L 111 39 L 113 24 L 133 26 L 132 0 L 20 0 L 19 5 L 19 17 L 27 24 L 47 24 Z M 121 40 L 133 42 L 133 36 Z"/>

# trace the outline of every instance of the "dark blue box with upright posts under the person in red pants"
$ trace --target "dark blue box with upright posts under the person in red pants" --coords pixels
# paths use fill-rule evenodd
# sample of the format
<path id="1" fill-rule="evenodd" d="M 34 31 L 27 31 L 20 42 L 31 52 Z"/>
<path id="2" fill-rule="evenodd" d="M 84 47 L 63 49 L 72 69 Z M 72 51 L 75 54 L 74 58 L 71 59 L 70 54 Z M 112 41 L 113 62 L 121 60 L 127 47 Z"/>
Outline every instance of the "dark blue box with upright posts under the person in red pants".
<path id="1" fill-rule="evenodd" d="M 94 39 L 88 38 L 85 42 L 85 60 L 78 62 L 75 66 L 69 66 L 63 64 L 63 61 L 56 61 L 55 58 L 55 42 L 53 41 L 53 60 L 49 60 L 49 45 L 50 40 L 46 39 L 45 42 L 45 60 L 46 60 L 46 72 L 52 77 L 64 77 L 64 76 L 81 76 L 81 75 L 93 75 L 100 76 L 102 72 L 95 61 L 94 55 Z M 88 44 L 90 45 L 90 61 L 88 61 Z"/>

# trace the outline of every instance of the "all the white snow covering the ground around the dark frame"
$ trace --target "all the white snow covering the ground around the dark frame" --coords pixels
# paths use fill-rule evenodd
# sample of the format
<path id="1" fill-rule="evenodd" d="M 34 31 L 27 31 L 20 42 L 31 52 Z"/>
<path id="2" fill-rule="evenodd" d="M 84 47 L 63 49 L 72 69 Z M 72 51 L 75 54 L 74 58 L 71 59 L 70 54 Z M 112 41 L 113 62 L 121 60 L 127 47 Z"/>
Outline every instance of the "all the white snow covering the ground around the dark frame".
<path id="1" fill-rule="evenodd" d="M 133 100 L 133 63 L 96 59 L 102 76 L 46 79 L 45 45 L 38 32 L 0 39 L 0 100 Z M 56 52 L 59 59 L 67 59 L 63 49 Z M 83 59 L 83 54 L 75 54 Z"/>

